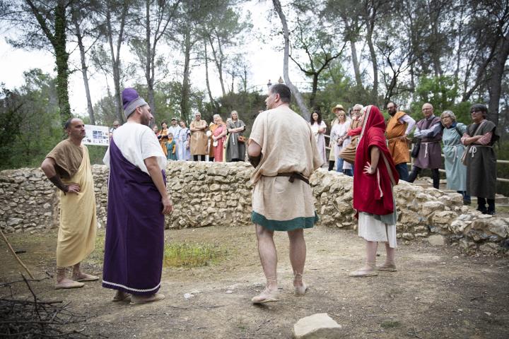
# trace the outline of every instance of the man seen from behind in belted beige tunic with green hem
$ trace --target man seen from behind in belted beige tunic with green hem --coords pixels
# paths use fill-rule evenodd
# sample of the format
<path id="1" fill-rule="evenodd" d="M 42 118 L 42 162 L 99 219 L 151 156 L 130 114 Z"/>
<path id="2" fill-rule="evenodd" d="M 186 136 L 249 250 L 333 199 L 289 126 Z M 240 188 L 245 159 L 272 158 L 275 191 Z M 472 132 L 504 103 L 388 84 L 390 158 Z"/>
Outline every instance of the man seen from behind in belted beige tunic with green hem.
<path id="1" fill-rule="evenodd" d="M 306 256 L 304 228 L 318 220 L 313 206 L 309 177 L 322 166 L 315 138 L 309 124 L 290 107 L 288 86 L 269 88 L 265 100 L 267 111 L 258 115 L 252 126 L 247 154 L 255 166 L 251 176 L 252 217 L 256 227 L 258 252 L 267 287 L 252 298 L 254 304 L 279 300 L 274 231 L 288 232 L 293 287 L 296 295 L 304 295 Z"/>

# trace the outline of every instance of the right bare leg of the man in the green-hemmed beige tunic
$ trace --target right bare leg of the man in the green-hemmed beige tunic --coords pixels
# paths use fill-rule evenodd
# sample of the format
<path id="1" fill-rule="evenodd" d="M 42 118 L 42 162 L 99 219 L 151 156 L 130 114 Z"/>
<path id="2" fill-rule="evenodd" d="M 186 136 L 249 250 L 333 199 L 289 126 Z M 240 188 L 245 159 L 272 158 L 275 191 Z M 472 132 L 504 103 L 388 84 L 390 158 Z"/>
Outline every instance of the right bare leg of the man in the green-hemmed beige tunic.
<path id="1" fill-rule="evenodd" d="M 293 268 L 293 287 L 295 288 L 296 295 L 304 295 L 308 288 L 303 282 L 306 257 L 304 230 L 298 229 L 288 231 L 288 239 L 290 239 L 290 262 Z"/>

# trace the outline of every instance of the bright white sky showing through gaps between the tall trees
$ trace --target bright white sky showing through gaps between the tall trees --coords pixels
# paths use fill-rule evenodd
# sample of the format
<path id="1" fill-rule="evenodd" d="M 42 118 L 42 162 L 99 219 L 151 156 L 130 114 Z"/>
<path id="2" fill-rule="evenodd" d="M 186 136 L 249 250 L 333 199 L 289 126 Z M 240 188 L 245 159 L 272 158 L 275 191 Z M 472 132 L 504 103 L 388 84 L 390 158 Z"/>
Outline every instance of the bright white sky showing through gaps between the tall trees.
<path id="1" fill-rule="evenodd" d="M 283 52 L 276 51 L 278 44 L 283 44 L 282 35 L 277 38 L 269 39 L 269 42 L 261 42 L 257 36 L 269 36 L 271 25 L 281 25 L 278 18 L 275 17 L 273 23 L 267 20 L 267 13 L 272 10 L 271 1 L 251 1 L 242 8 L 244 11 L 250 11 L 252 14 L 253 28 L 249 32 L 247 42 L 243 47 L 246 52 L 246 59 L 250 66 L 250 76 L 248 76 L 248 88 L 255 86 L 258 90 L 266 90 L 267 82 L 270 80 L 276 83 L 280 76 L 283 76 Z M 279 26 L 278 26 L 279 27 Z M 16 30 L 1 32 L 0 35 L 0 83 L 5 83 L 7 88 L 16 88 L 23 85 L 23 72 L 29 69 L 40 68 L 42 71 L 56 76 L 54 57 L 51 53 L 44 50 L 25 50 L 15 49 L 6 42 L 6 37 L 16 37 Z M 133 61 L 129 55 L 129 50 L 125 47 L 121 52 L 128 61 Z M 180 54 L 178 56 L 181 57 Z M 78 50 L 71 54 L 71 62 L 79 64 Z M 221 85 L 216 73 L 211 73 L 209 64 L 209 78 L 213 97 L 221 95 Z M 304 81 L 300 71 L 291 64 L 290 78 L 293 82 Z M 171 79 L 165 79 L 171 80 Z M 182 80 L 182 79 L 178 79 Z M 143 81 L 143 78 L 136 78 L 125 85 L 129 86 L 136 81 Z M 194 88 L 206 90 L 204 66 L 197 66 L 192 69 L 191 82 Z M 97 102 L 105 96 L 107 86 L 105 77 L 102 73 L 94 73 L 90 78 L 90 95 L 92 101 Z M 110 80 L 112 88 L 112 80 Z M 86 115 L 86 94 L 83 86 L 83 77 L 81 72 L 77 71 L 69 77 L 69 101 L 74 114 Z"/>

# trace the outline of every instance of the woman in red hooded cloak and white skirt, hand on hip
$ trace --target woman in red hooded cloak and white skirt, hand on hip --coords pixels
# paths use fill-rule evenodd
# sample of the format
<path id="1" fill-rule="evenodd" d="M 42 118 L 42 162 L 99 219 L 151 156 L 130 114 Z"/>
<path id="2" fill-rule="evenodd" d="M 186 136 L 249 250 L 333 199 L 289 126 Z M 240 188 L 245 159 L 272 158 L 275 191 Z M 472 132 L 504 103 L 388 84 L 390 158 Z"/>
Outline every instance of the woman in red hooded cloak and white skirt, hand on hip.
<path id="1" fill-rule="evenodd" d="M 353 174 L 353 208 L 357 210 L 358 235 L 366 240 L 365 266 L 351 277 L 378 275 L 378 270 L 395 271 L 396 203 L 392 187 L 399 177 L 385 143 L 385 121 L 380 110 L 368 106 L 363 117 Z M 376 267 L 378 242 L 385 242 L 387 257 Z"/>

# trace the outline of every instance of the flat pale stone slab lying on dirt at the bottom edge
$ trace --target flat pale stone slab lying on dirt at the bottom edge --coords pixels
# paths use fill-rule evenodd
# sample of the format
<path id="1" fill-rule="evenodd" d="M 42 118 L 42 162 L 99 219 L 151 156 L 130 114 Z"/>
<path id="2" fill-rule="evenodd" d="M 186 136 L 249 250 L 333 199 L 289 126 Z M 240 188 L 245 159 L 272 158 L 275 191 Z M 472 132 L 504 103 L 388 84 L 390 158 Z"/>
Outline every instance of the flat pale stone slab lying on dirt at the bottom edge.
<path id="1" fill-rule="evenodd" d="M 341 325 L 327 313 L 306 316 L 293 325 L 293 338 L 296 339 L 334 339 L 340 336 Z"/>

